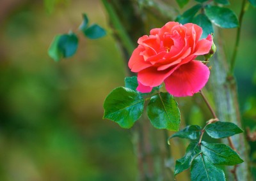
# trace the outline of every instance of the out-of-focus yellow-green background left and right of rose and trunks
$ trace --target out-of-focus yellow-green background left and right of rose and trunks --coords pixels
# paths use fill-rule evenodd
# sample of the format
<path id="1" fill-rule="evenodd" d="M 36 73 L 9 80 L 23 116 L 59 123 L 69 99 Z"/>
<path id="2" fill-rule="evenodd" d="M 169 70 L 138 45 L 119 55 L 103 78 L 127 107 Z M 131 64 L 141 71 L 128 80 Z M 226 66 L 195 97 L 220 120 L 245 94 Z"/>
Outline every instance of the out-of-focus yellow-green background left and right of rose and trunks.
<path id="1" fill-rule="evenodd" d="M 39 0 L 0 2 L 0 180 L 135 180 L 130 131 L 102 120 L 104 99 L 124 85 L 127 69 L 106 12 L 98 0 L 61 2 L 52 8 Z M 238 14 L 240 1 L 231 3 Z M 240 108 L 251 129 L 256 123 L 255 11 L 250 7 L 244 16 L 236 66 Z M 84 38 L 78 30 L 82 13 L 108 35 Z M 56 34 L 70 30 L 79 34 L 77 53 L 54 62 L 47 49 Z M 236 31 L 223 33 L 230 56 Z M 186 110 L 187 122 L 204 121 L 198 106 Z"/>

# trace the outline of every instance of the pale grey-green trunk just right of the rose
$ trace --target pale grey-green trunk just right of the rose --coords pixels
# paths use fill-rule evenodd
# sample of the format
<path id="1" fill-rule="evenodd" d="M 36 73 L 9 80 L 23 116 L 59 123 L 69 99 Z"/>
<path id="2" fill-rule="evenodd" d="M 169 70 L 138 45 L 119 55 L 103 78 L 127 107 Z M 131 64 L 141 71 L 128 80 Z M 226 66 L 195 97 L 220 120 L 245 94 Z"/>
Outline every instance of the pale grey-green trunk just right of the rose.
<path id="1" fill-rule="evenodd" d="M 215 31 L 214 43 L 216 44 L 216 54 L 211 59 L 211 76 L 210 87 L 213 92 L 217 117 L 221 121 L 233 122 L 239 127 L 243 127 L 241 115 L 239 112 L 239 103 L 237 98 L 237 85 L 233 76 L 228 77 L 228 62 L 224 54 L 223 45 L 221 43 L 218 30 Z M 245 134 L 236 134 L 232 136 L 234 146 L 237 152 L 244 160 L 244 163 L 239 164 L 236 169 L 237 180 L 252 180 L 249 171 L 248 144 Z M 223 139 L 225 144 L 228 144 L 227 139 Z M 226 170 L 228 180 L 234 180 L 234 176 L 230 172 L 231 167 Z"/>

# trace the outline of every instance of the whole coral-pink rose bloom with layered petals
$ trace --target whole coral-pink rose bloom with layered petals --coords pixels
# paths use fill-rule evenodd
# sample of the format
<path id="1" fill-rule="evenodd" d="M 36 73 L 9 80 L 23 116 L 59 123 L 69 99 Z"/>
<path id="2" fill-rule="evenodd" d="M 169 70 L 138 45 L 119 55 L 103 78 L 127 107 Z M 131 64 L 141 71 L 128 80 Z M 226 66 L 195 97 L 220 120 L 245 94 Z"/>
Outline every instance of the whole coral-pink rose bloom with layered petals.
<path id="1" fill-rule="evenodd" d="M 176 97 L 192 96 L 207 83 L 209 68 L 197 55 L 208 54 L 212 36 L 200 40 L 202 28 L 196 24 L 168 22 L 152 29 L 138 40 L 129 68 L 138 73 L 137 91 L 146 93 L 165 83 L 166 91 Z"/>

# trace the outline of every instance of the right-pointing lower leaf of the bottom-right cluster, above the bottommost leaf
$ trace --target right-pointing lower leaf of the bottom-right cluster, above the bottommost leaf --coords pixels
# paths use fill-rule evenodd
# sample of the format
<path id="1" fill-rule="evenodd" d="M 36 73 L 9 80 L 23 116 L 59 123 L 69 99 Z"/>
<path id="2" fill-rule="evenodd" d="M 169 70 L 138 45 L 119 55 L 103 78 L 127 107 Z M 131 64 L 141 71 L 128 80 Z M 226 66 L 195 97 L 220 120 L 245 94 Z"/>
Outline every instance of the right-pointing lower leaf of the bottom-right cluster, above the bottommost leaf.
<path id="1" fill-rule="evenodd" d="M 239 157 L 237 152 L 225 144 L 202 141 L 201 150 L 213 164 L 235 165 L 243 163 L 243 159 Z"/>

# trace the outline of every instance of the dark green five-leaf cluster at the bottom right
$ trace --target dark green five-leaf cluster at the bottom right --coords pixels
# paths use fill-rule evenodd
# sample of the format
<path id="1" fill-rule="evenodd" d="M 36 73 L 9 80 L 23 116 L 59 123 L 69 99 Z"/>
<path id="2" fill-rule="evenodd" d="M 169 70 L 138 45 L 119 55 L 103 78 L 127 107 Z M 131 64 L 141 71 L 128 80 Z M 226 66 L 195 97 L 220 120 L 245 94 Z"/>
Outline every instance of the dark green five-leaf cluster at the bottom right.
<path id="1" fill-rule="evenodd" d="M 191 140 L 184 157 L 175 164 L 175 175 L 190 168 L 191 180 L 225 180 L 221 165 L 236 165 L 243 163 L 243 159 L 225 144 L 207 143 L 200 137 L 206 132 L 211 138 L 227 138 L 234 134 L 243 133 L 236 124 L 217 121 L 207 124 L 203 129 L 200 126 L 187 126 L 170 138 L 179 137 Z"/>

